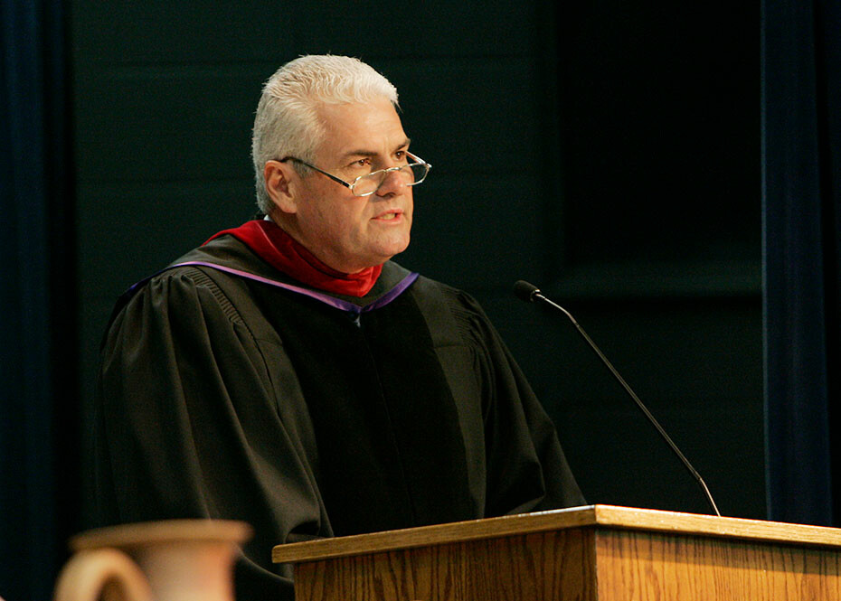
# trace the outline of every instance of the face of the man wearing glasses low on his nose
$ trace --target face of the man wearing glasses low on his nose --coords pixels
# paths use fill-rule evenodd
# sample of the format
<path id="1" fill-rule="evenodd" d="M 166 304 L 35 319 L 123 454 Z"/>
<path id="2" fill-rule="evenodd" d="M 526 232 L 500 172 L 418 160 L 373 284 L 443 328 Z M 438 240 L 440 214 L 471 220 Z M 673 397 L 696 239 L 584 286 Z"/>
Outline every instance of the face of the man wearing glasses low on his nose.
<path id="1" fill-rule="evenodd" d="M 353 183 L 360 175 L 406 164 L 409 139 L 386 99 L 323 105 L 324 144 L 315 165 Z M 388 174 L 370 196 L 354 196 L 323 174 L 310 173 L 297 187 L 300 241 L 331 268 L 354 273 L 380 265 L 409 246 L 411 187 Z"/>

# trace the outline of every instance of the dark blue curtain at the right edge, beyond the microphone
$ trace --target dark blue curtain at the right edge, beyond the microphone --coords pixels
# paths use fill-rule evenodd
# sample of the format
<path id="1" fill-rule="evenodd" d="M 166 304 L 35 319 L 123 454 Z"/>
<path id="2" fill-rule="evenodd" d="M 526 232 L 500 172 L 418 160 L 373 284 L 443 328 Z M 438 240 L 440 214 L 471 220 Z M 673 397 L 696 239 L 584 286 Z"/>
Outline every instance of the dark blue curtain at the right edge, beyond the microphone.
<path id="1" fill-rule="evenodd" d="M 841 3 L 762 4 L 768 510 L 839 525 Z"/>

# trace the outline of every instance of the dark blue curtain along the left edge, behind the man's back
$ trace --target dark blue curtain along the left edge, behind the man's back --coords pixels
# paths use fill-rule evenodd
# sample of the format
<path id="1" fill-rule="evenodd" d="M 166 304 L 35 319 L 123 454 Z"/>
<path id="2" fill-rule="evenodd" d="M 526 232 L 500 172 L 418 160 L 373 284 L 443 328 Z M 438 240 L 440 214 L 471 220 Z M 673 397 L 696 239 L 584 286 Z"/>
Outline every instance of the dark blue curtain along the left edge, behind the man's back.
<path id="1" fill-rule="evenodd" d="M 0 4 L 0 596 L 47 600 L 77 506 L 61 2 Z M 60 457 L 66 457 L 61 459 Z"/>

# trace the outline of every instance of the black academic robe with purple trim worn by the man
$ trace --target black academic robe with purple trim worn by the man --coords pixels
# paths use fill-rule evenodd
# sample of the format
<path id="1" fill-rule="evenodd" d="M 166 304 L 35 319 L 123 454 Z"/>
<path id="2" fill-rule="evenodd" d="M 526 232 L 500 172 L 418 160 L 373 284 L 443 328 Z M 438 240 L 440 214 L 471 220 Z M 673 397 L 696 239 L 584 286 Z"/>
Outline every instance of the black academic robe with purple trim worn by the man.
<path id="1" fill-rule="evenodd" d="M 388 262 L 363 298 L 307 296 L 230 235 L 184 262 L 219 268 L 135 286 L 103 343 L 98 525 L 249 522 L 247 601 L 292 598 L 270 560 L 279 543 L 583 503 L 552 422 L 467 294 Z"/>

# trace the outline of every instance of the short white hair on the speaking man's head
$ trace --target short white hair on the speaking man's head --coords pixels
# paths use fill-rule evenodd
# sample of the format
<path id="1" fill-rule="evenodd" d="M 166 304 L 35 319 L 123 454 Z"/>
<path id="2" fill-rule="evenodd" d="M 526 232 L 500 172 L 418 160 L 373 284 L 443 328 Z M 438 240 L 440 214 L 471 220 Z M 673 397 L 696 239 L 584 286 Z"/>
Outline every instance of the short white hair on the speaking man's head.
<path id="1" fill-rule="evenodd" d="M 263 179 L 267 161 L 287 156 L 307 163 L 315 161 L 325 136 L 317 112 L 320 104 L 376 99 L 388 99 L 397 108 L 397 89 L 359 59 L 330 54 L 309 55 L 289 61 L 275 71 L 263 86 L 251 136 L 251 159 L 260 211 L 268 213 L 272 206 Z M 309 171 L 298 163 L 295 167 L 301 174 Z"/>

